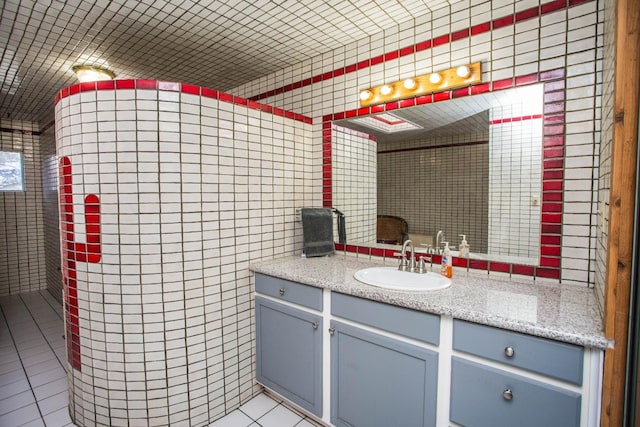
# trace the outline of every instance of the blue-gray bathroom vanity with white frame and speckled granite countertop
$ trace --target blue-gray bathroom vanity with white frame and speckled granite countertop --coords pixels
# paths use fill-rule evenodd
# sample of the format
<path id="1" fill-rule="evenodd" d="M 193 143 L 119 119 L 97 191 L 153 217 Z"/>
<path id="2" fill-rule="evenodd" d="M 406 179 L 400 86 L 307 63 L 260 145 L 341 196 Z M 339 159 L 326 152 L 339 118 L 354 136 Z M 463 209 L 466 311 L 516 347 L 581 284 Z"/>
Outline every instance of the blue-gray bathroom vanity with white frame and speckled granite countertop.
<path id="1" fill-rule="evenodd" d="M 592 292 L 458 273 L 450 288 L 357 282 L 370 262 L 252 266 L 257 379 L 335 426 L 597 426 Z"/>

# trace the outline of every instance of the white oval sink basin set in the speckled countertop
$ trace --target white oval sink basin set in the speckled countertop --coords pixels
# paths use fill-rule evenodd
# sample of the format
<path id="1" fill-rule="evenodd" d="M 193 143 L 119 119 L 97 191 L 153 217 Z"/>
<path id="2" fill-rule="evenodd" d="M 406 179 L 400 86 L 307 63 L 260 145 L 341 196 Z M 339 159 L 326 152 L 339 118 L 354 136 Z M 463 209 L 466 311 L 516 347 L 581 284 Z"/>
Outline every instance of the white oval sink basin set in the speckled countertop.
<path id="1" fill-rule="evenodd" d="M 353 277 L 367 285 L 396 291 L 435 291 L 451 286 L 451 279 L 437 273 L 410 273 L 397 267 L 369 267 L 355 272 Z"/>

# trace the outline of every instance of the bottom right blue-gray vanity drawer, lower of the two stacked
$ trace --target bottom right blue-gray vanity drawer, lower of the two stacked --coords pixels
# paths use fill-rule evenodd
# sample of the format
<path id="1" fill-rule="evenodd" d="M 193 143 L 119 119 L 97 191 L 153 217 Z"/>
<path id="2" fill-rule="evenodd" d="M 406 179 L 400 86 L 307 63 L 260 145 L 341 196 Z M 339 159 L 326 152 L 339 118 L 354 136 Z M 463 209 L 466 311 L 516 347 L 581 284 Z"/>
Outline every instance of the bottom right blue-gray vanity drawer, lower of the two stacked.
<path id="1" fill-rule="evenodd" d="M 467 427 L 580 425 L 581 396 L 571 390 L 454 357 L 451 421 Z"/>

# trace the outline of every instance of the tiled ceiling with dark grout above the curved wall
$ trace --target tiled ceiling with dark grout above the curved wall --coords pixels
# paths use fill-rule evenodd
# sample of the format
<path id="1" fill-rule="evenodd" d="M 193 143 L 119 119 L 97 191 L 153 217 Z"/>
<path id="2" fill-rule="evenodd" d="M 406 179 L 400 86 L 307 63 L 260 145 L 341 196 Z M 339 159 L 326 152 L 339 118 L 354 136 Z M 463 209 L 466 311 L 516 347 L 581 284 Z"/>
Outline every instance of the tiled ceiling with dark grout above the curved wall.
<path id="1" fill-rule="evenodd" d="M 0 1 L 0 116 L 52 120 L 73 65 L 225 91 L 453 1 Z"/>

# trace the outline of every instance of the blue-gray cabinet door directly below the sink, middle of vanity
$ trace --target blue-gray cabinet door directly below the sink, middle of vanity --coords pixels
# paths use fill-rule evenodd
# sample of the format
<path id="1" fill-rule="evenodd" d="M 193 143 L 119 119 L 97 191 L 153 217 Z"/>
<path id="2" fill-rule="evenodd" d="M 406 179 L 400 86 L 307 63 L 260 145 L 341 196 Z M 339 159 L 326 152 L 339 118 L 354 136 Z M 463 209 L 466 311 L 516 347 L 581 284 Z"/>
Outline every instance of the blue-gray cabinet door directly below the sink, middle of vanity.
<path id="1" fill-rule="evenodd" d="M 331 423 L 435 426 L 437 353 L 332 321 Z"/>

